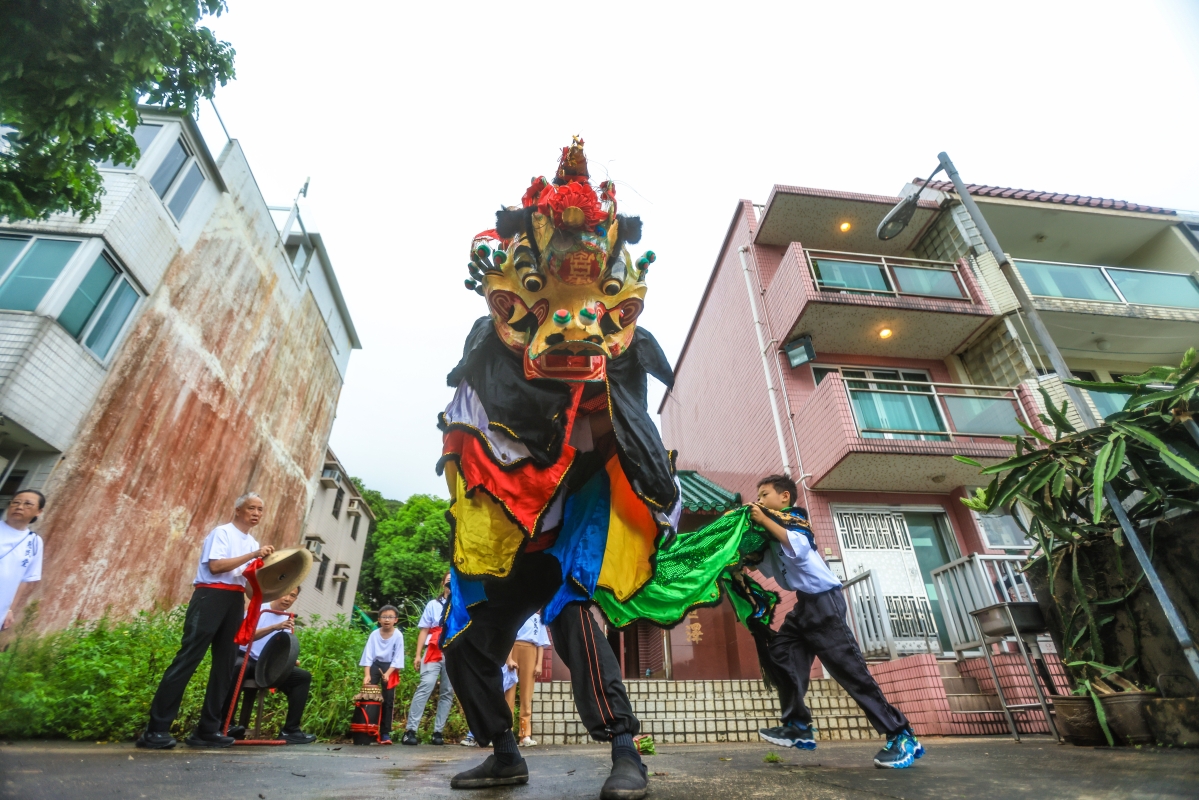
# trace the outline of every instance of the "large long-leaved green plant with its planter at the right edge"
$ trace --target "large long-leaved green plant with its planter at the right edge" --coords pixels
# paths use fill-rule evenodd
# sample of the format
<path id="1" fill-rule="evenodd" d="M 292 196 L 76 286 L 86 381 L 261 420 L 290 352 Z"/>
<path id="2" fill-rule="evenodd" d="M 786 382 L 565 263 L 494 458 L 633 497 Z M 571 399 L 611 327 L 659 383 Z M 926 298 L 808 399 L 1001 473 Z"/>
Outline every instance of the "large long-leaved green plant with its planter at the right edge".
<path id="1" fill-rule="evenodd" d="M 981 469 L 992 482 L 963 503 L 1011 511 L 1037 542 L 1026 575 L 1076 692 L 1090 698 L 1108 742 L 1145 741 L 1143 706 L 1157 697 L 1158 676 L 1191 669 L 1104 485 L 1138 529 L 1183 622 L 1199 632 L 1199 359 L 1191 349 L 1179 367 L 1117 383 L 1066 383 L 1126 395 L 1127 402 L 1098 427 L 1079 431 L 1067 404 L 1055 407 L 1042 389 L 1042 425 L 1020 422 L 1026 435 L 1007 437 L 1016 455 Z M 1188 691 L 1197 694 L 1199 686 Z"/>

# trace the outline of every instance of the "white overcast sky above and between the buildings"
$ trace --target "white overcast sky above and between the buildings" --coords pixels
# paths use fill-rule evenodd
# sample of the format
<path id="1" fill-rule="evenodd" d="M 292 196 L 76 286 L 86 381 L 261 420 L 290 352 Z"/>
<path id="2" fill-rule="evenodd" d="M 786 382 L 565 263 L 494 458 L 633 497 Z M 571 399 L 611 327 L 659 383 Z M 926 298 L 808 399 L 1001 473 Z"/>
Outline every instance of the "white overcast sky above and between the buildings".
<path id="1" fill-rule="evenodd" d="M 645 223 L 639 324 L 671 360 L 775 184 L 896 194 L 946 150 L 971 182 L 1199 209 L 1195 0 L 229 5 L 217 106 L 269 201 L 312 176 L 363 344 L 331 444 L 391 498 L 445 495 L 471 236 L 571 134 Z"/>

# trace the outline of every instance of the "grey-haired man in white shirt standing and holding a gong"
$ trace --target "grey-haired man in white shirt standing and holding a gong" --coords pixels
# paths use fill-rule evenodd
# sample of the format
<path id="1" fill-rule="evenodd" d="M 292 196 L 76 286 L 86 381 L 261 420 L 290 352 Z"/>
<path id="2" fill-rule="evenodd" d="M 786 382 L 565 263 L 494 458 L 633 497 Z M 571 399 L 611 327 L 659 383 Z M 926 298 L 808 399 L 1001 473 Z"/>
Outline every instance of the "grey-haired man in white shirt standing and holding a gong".
<path id="1" fill-rule="evenodd" d="M 263 519 L 263 499 L 253 492 L 237 498 L 233 522 L 213 528 L 204 539 L 200 565 L 195 570 L 194 591 L 183 619 L 183 640 L 175 660 L 167 667 L 158 691 L 150 703 L 150 722 L 138 738 L 138 747 L 165 750 L 175 746 L 170 726 L 179 716 L 183 691 L 204 654 L 212 649 L 212 669 L 204 694 L 204 710 L 195 730 L 187 738 L 193 747 L 228 747 L 233 736 L 221 732 L 225 698 L 235 675 L 237 645 L 234 637 L 241 627 L 246 607 L 246 565 L 275 552 L 270 545 L 259 547 L 249 535 Z"/>

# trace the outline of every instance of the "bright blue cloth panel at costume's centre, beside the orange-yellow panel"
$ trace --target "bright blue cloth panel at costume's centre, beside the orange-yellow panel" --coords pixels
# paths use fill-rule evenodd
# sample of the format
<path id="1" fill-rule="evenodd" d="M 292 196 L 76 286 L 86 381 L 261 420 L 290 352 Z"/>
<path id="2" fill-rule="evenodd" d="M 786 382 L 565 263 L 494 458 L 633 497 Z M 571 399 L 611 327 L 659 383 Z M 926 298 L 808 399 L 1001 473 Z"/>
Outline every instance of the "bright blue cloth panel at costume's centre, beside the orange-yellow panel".
<path id="1" fill-rule="evenodd" d="M 562 588 L 546 606 L 542 615 L 546 625 L 554 621 L 566 603 L 590 600 L 596 590 L 608 546 L 609 495 L 608 473 L 601 469 L 582 489 L 566 498 L 562 530 L 547 551 L 562 565 Z"/>

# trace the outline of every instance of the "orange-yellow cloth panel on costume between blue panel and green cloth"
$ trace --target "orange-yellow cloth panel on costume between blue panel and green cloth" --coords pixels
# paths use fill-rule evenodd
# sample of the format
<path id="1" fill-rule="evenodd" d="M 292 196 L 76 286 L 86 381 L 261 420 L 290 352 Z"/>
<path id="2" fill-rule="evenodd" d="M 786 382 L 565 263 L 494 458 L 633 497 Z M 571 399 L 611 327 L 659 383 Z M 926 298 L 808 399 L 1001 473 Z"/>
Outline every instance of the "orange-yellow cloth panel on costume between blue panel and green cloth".
<path id="1" fill-rule="evenodd" d="M 600 585 L 625 602 L 653 577 L 650 557 L 658 528 L 653 515 L 629 486 L 620 461 L 614 456 L 605 467 L 611 491 L 608 515 L 608 545 L 600 567 Z"/>

